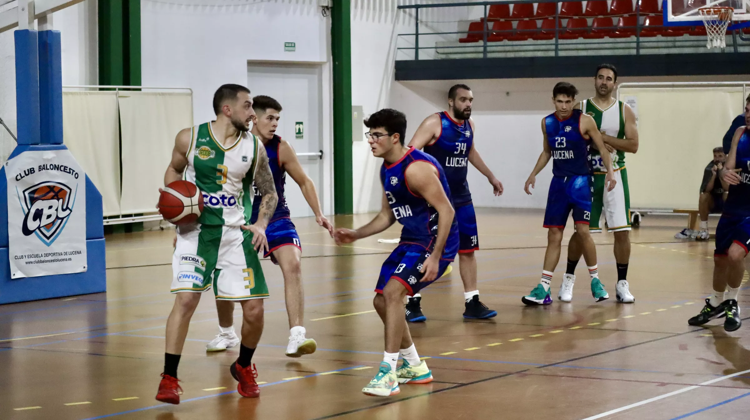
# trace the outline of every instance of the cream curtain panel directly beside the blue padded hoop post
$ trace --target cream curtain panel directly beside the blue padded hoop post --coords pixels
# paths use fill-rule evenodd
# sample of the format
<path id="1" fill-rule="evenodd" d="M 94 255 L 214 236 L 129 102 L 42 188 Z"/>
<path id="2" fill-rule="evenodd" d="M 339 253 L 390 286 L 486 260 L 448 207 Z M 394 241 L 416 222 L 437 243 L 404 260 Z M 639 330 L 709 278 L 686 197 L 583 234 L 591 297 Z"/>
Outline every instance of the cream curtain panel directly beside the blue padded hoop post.
<path id="1" fill-rule="evenodd" d="M 63 142 L 101 193 L 104 215 L 120 214 L 115 92 L 63 92 Z"/>

